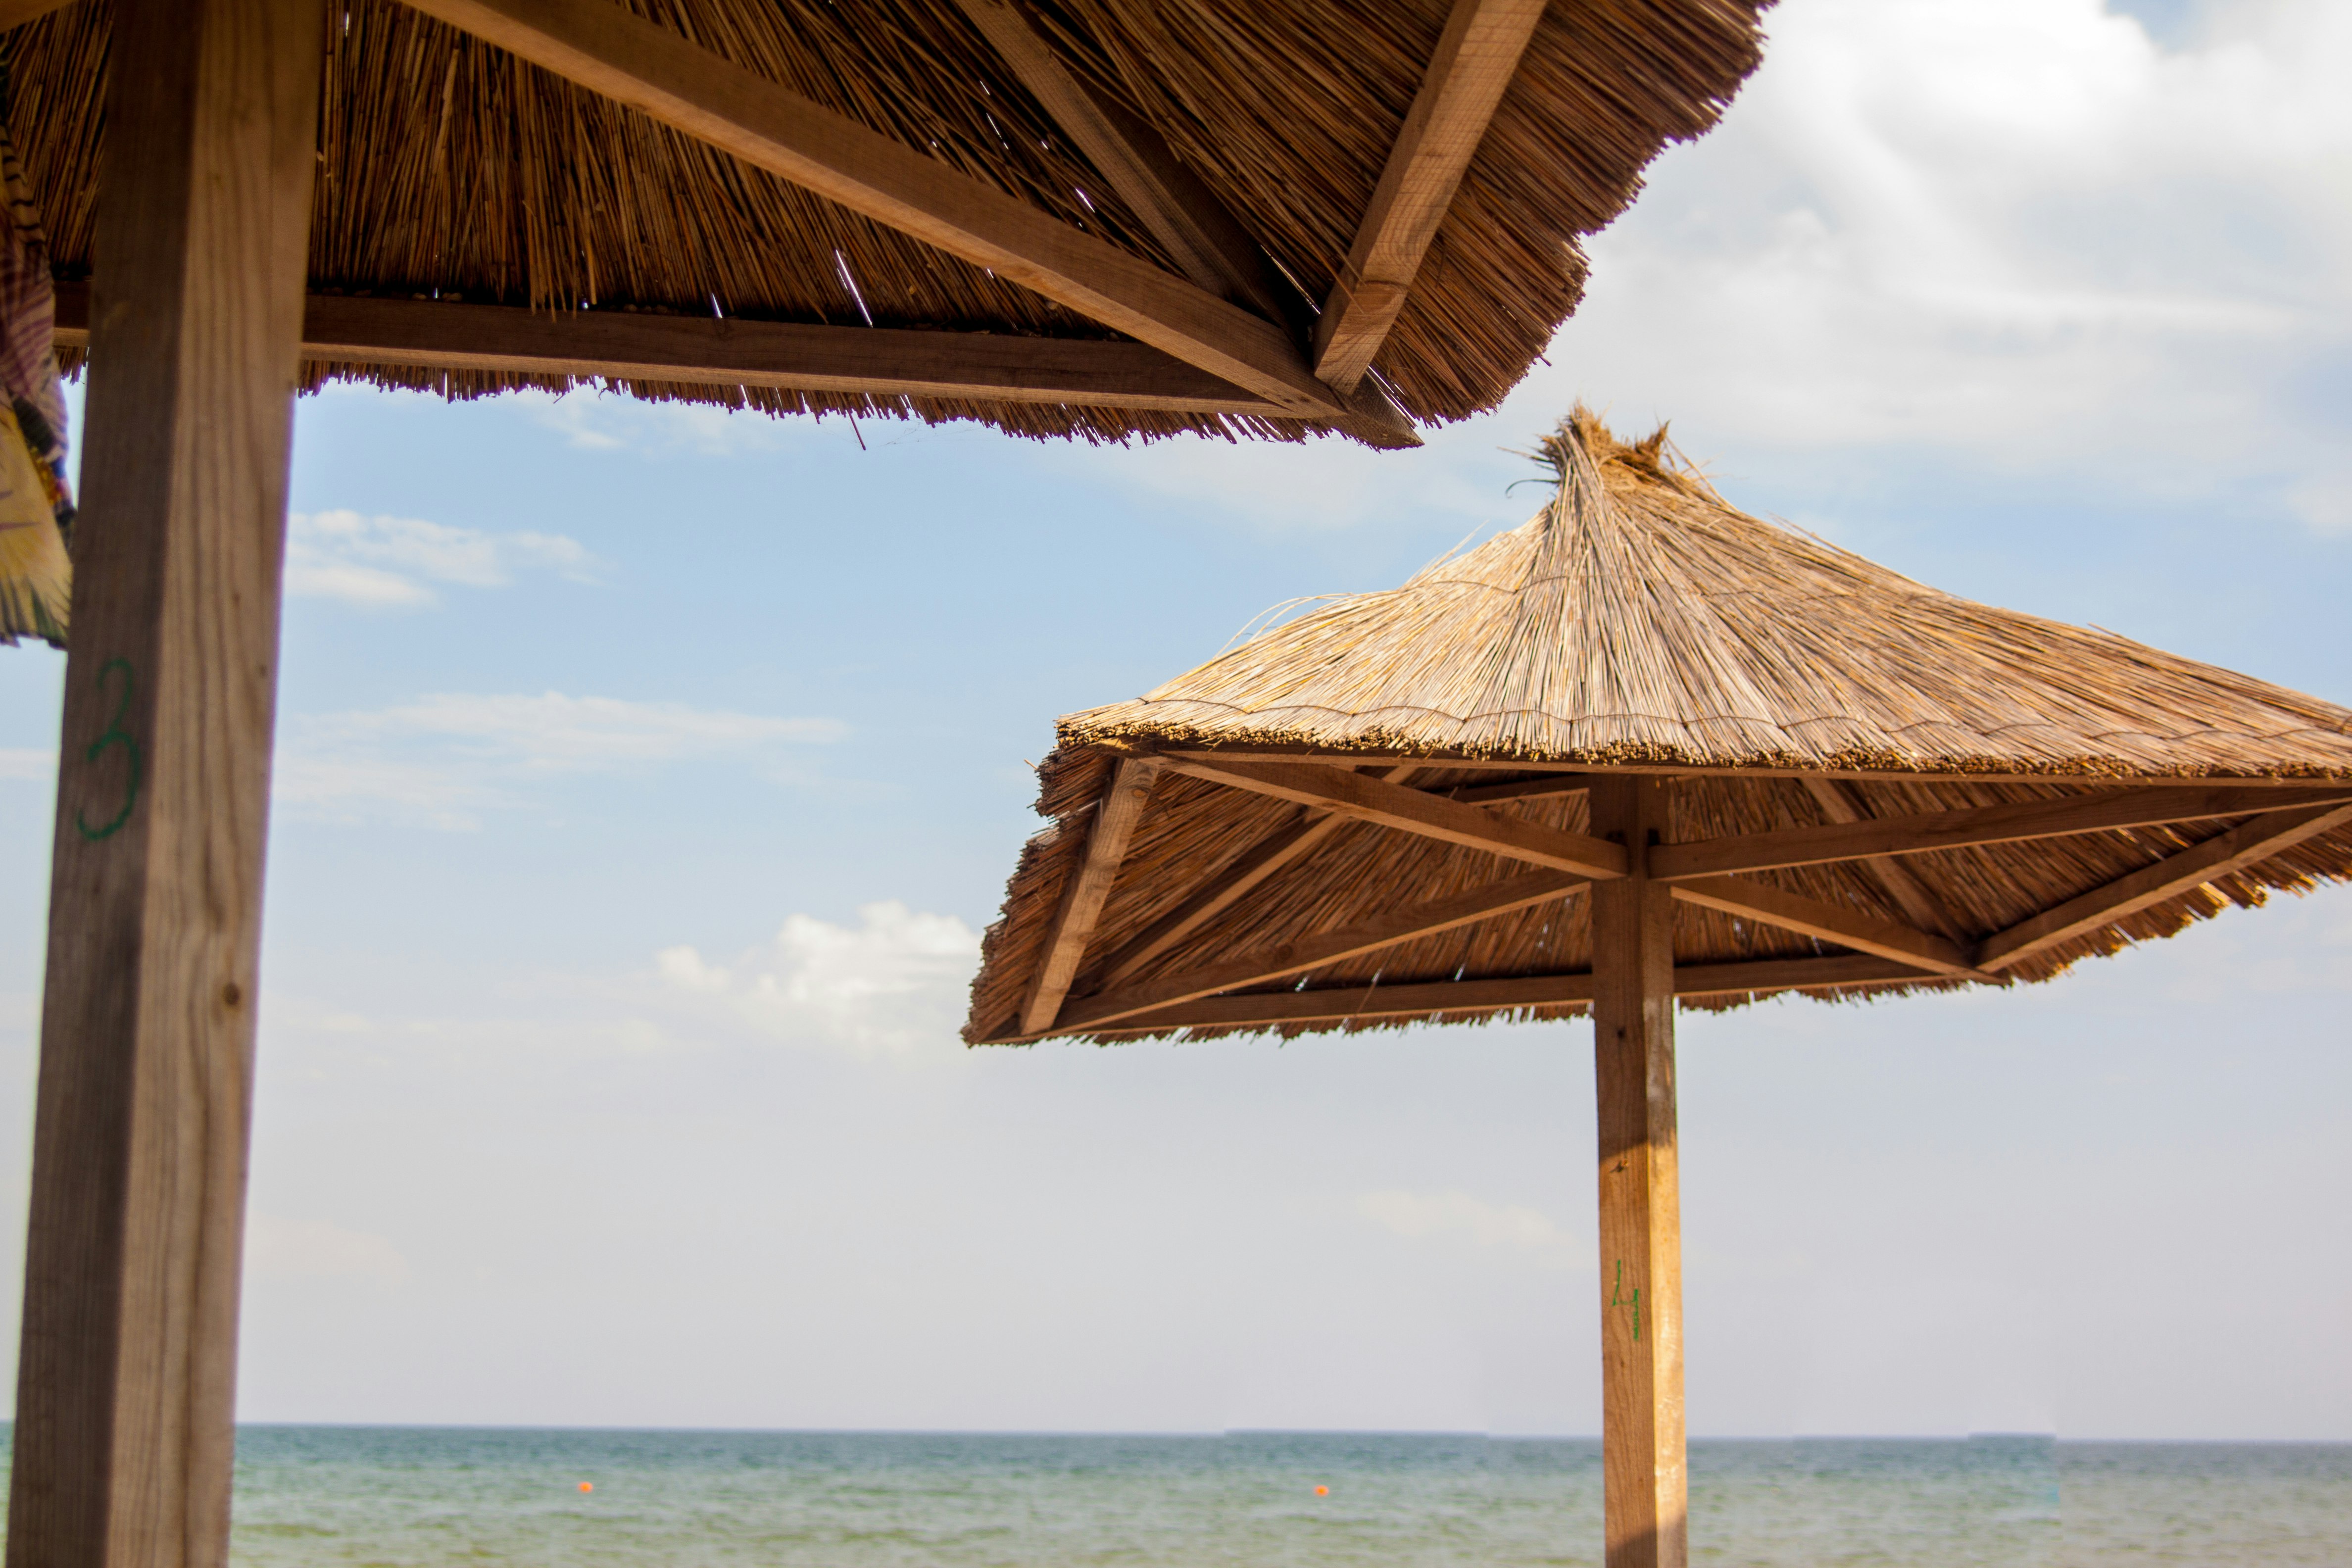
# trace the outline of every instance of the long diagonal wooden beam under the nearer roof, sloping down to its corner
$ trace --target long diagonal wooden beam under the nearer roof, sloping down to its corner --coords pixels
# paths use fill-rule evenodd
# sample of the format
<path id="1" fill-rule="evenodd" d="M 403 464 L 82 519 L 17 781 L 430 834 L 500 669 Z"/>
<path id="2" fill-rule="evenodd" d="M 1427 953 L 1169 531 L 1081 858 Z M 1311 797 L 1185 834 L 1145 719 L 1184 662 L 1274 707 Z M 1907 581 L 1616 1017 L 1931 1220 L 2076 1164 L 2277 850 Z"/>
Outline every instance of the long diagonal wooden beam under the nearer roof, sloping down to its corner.
<path id="1" fill-rule="evenodd" d="M 731 66 L 614 0 L 409 2 L 753 167 L 1141 339 L 1291 418 L 1334 421 L 1355 411 L 1315 378 L 1282 327 Z"/>

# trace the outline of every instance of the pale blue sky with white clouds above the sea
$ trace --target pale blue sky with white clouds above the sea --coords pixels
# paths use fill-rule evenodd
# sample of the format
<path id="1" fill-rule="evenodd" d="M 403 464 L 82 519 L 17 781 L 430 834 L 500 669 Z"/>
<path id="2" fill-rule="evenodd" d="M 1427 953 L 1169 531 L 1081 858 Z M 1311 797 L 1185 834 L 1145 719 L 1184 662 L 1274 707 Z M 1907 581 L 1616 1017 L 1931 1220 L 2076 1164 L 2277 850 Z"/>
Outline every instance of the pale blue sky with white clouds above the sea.
<path id="1" fill-rule="evenodd" d="M 955 1027 L 1054 717 L 1515 527 L 1578 397 L 1938 588 L 2352 701 L 2352 7 L 1769 31 L 1411 454 L 306 400 L 242 1418 L 1597 1432 L 1588 1025 Z M 0 651 L 0 1267 L 61 670 Z M 1684 1018 L 1691 1432 L 2352 1439 L 2347 1001 L 2333 889 Z"/>

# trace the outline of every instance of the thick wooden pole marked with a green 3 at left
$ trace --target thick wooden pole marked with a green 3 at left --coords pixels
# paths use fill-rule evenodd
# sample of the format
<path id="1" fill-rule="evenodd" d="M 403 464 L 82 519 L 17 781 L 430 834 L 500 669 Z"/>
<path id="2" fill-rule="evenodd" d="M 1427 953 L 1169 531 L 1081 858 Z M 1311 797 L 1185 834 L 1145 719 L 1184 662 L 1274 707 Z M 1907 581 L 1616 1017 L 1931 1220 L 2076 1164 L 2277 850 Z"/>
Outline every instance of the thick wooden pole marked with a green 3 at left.
<path id="1" fill-rule="evenodd" d="M 9 1568 L 219 1568 L 320 0 L 118 0 Z"/>

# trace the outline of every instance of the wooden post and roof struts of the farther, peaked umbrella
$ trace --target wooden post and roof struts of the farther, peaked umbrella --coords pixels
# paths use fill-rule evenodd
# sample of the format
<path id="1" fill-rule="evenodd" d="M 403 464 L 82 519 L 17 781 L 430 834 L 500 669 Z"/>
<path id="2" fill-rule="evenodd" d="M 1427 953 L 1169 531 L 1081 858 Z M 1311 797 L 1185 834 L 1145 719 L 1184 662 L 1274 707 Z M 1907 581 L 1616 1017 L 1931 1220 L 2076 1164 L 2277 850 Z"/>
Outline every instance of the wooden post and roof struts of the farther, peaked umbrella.
<path id="1" fill-rule="evenodd" d="M 1367 769 L 1367 771 L 1357 771 Z M 1416 790 L 1425 771 L 1522 773 Z M 1169 776 L 1305 806 L 1305 816 L 1232 856 L 1174 910 L 1112 952 L 1091 952 L 1152 788 Z M 1670 842 L 1677 778 L 1799 778 L 1823 816 L 1785 827 Z M 2100 780 L 2079 792 L 1997 806 L 1872 816 L 1858 780 L 1802 769 L 1541 769 L 1470 757 L 1169 748 L 1134 750 L 1108 771 L 1084 851 L 1063 882 L 1016 1016 L 974 1044 L 1058 1034 L 1282 1030 L 1345 1023 L 1465 1020 L 1581 1006 L 1592 1016 L 1599 1178 L 1602 1448 L 1609 1568 L 1689 1561 L 1682 1415 L 1682 1206 L 1675 1131 L 1677 999 L 1839 992 L 1903 983 L 2006 983 L 2009 969 L 2206 882 L 2352 823 L 2352 780 Z M 1922 773 L 1905 773 L 1919 780 Z M 1999 776 L 1966 773 L 1971 783 Z M 2032 783 L 2053 783 L 2046 776 Z M 1585 795 L 1590 832 L 1498 811 L 1531 797 Z M 1301 936 L 1174 973 L 1155 959 L 1268 884 L 1343 823 L 1491 851 L 1508 872 L 1470 891 L 1404 903 L 1359 924 Z M 2133 827 L 2211 825 L 2190 846 L 2065 898 L 2002 931 L 1971 933 L 1905 858 Z M 1882 919 L 1806 898 L 1755 872 L 1860 863 L 1905 912 Z M 1404 985 L 1265 987 L 1362 954 L 1475 926 L 1573 896 L 1590 898 L 1592 964 L 1576 973 Z M 1675 905 L 1778 926 L 1842 952 L 1738 964 L 1675 964 Z M 1145 976 L 1148 978 L 1138 978 Z"/>

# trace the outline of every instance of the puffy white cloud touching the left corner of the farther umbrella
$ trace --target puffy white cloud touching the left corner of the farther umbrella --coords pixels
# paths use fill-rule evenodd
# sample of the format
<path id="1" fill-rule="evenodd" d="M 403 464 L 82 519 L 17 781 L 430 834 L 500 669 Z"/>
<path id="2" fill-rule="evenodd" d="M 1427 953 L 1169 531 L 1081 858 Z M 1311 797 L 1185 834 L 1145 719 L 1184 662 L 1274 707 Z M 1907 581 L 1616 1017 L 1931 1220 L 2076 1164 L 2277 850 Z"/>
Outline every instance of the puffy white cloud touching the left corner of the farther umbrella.
<path id="1" fill-rule="evenodd" d="M 981 936 L 957 917 L 882 900 L 861 905 L 856 926 L 790 914 L 724 966 L 668 947 L 656 969 L 675 997 L 774 1039 L 906 1051 L 955 1044 L 978 959 Z"/>

